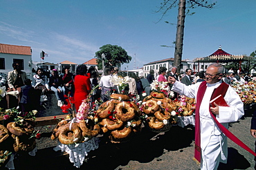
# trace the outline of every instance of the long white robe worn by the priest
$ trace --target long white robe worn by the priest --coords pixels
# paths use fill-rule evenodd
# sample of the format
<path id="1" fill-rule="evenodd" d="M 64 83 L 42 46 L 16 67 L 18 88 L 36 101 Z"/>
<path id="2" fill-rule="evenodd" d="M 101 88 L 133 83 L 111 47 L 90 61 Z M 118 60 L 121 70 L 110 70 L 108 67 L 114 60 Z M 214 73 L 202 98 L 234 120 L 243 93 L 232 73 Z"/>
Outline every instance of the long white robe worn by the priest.
<path id="1" fill-rule="evenodd" d="M 180 82 L 175 82 L 172 91 L 176 91 L 181 95 L 196 98 L 201 83 L 185 86 Z M 207 88 L 201 106 L 200 128 L 201 128 L 201 169 L 217 169 L 219 161 L 226 163 L 228 156 L 228 144 L 226 135 L 223 135 L 217 124 L 214 123 L 209 111 L 210 97 L 221 82 L 215 84 L 206 84 Z M 244 104 L 241 102 L 239 95 L 228 87 L 228 91 L 224 97 L 230 107 L 219 106 L 219 115 L 217 120 L 228 129 L 229 122 L 237 122 L 244 115 Z M 221 145 L 220 145 L 221 144 Z M 221 154 L 220 154 L 221 153 Z"/>

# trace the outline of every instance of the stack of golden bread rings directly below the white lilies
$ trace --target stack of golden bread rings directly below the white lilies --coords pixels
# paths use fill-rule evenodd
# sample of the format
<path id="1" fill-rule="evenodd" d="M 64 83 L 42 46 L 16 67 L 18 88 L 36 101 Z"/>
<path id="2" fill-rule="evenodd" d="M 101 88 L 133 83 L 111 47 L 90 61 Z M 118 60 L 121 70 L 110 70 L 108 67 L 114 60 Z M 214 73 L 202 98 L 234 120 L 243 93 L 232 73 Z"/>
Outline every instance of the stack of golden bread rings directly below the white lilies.
<path id="1" fill-rule="evenodd" d="M 111 100 L 101 104 L 95 116 L 112 143 L 126 142 L 141 130 L 140 110 L 127 95 L 111 94 Z"/>

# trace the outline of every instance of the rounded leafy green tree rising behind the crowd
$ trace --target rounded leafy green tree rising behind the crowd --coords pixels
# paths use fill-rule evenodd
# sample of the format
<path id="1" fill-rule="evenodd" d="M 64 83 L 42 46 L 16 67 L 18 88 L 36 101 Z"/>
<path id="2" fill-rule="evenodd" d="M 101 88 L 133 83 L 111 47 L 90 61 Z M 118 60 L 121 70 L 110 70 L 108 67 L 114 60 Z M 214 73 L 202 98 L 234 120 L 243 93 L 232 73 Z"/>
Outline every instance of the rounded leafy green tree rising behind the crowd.
<path id="1" fill-rule="evenodd" d="M 95 58 L 97 58 L 98 68 L 102 69 L 102 54 L 104 53 L 104 66 L 120 66 L 121 64 L 129 63 L 131 61 L 131 56 L 129 56 L 125 49 L 120 46 L 107 44 L 100 47 L 95 53 Z"/>

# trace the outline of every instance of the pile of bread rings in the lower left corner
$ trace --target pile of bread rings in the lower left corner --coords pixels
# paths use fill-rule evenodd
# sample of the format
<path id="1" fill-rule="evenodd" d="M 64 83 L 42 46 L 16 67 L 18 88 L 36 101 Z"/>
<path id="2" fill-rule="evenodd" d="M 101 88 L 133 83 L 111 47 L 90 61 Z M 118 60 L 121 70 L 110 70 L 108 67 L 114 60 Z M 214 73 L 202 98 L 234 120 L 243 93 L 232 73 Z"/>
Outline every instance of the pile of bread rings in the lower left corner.
<path id="1" fill-rule="evenodd" d="M 21 122 L 9 122 L 6 126 L 0 125 L 0 151 L 15 151 L 28 153 L 35 149 L 34 120 L 22 119 Z"/>

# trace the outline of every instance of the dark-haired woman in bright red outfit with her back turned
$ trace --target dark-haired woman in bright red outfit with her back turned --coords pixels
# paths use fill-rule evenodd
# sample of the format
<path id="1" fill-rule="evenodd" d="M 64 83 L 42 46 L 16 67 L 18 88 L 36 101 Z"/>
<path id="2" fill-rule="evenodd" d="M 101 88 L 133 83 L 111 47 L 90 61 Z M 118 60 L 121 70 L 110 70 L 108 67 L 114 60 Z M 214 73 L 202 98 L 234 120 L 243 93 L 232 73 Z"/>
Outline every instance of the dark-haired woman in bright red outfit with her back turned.
<path id="1" fill-rule="evenodd" d="M 79 106 L 82 104 L 82 100 L 85 100 L 91 92 L 90 77 L 87 75 L 87 66 L 80 64 L 76 68 L 76 75 L 74 79 L 75 85 L 75 109 L 78 111 Z"/>

